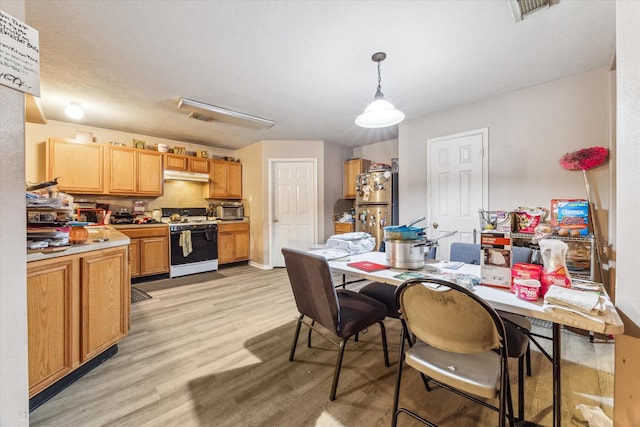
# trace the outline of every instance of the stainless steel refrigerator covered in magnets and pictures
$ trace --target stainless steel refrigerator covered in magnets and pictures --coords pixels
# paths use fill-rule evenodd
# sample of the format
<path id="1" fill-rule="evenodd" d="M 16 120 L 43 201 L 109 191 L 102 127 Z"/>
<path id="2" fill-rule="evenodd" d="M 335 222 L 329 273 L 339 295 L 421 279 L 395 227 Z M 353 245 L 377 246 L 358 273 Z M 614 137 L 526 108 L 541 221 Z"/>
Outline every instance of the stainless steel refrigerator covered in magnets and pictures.
<path id="1" fill-rule="evenodd" d="M 371 171 L 356 178 L 356 231 L 376 239 L 375 250 L 384 240 L 384 227 L 398 225 L 398 174 Z"/>

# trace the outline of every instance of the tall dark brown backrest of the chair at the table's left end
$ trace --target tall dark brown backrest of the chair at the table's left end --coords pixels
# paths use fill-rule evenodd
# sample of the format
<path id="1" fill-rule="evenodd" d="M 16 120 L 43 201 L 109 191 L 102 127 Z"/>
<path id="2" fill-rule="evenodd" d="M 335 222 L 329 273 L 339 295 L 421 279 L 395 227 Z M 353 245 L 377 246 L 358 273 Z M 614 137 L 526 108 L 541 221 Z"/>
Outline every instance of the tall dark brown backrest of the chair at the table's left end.
<path id="1" fill-rule="evenodd" d="M 337 331 L 338 295 L 327 260 L 310 252 L 289 248 L 283 248 L 282 255 L 300 314 L 331 331 Z"/>

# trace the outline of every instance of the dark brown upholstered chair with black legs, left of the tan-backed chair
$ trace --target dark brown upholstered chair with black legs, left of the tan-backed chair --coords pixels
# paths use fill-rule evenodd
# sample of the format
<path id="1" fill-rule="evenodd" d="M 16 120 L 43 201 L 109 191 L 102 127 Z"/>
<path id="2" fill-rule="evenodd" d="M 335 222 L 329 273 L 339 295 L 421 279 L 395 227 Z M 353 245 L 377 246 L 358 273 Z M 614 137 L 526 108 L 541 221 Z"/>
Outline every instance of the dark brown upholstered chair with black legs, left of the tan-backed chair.
<path id="1" fill-rule="evenodd" d="M 303 323 L 309 328 L 308 347 L 311 347 L 312 331 L 325 336 L 325 331 L 317 329 L 316 323 L 340 338 L 340 343 L 336 343 L 339 351 L 329 394 L 329 399 L 335 400 L 347 341 L 352 336 L 355 336 L 357 340 L 359 332 L 378 323 L 382 337 L 384 364 L 390 366 L 387 336 L 383 322 L 387 314 L 387 308 L 384 304 L 358 292 L 336 289 L 329 263 L 321 256 L 288 248 L 283 248 L 282 254 L 296 306 L 300 312 L 291 344 L 289 361 L 293 361 Z M 310 320 L 310 323 L 307 323 L 305 318 Z M 328 337 L 325 336 L 325 338 Z M 329 341 L 334 342 L 331 339 Z"/>

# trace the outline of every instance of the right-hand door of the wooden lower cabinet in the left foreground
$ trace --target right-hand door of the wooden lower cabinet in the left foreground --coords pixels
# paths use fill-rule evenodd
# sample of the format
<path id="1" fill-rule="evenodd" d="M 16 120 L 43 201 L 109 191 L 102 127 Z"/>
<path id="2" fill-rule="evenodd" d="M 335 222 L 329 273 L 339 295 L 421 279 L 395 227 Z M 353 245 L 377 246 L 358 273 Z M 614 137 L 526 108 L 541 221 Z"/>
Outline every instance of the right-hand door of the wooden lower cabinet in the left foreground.
<path id="1" fill-rule="evenodd" d="M 81 259 L 80 359 L 91 359 L 127 335 L 131 282 L 126 247 Z"/>

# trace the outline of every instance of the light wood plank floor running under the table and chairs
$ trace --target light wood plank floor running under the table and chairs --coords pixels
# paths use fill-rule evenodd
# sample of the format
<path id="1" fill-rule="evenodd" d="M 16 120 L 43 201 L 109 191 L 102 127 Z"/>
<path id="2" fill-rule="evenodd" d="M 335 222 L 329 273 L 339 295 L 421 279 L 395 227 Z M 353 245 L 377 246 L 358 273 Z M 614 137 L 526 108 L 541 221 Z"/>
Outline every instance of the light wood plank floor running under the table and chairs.
<path id="1" fill-rule="evenodd" d="M 30 414 L 32 426 L 390 426 L 400 323 L 388 319 L 392 366 L 379 328 L 349 341 L 335 401 L 336 348 L 301 334 L 288 361 L 297 310 L 284 269 L 223 268 L 211 282 L 151 293 L 132 305 L 119 352 Z M 536 327 L 545 331 L 544 327 Z M 546 331 L 549 333 L 550 331 Z M 578 403 L 612 416 L 613 343 L 563 332 L 563 425 L 586 426 Z M 510 364 L 516 395 L 517 364 Z M 443 426 L 494 426 L 496 414 L 452 393 L 427 393 L 411 370 L 401 404 Z M 533 351 L 527 419 L 551 425 L 551 365 Z M 400 426 L 418 425 L 403 417 Z"/>

